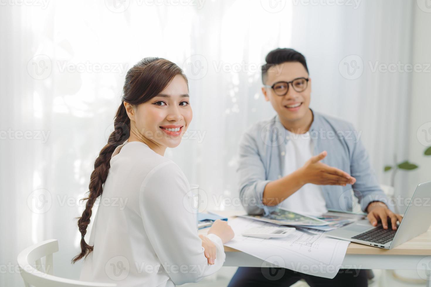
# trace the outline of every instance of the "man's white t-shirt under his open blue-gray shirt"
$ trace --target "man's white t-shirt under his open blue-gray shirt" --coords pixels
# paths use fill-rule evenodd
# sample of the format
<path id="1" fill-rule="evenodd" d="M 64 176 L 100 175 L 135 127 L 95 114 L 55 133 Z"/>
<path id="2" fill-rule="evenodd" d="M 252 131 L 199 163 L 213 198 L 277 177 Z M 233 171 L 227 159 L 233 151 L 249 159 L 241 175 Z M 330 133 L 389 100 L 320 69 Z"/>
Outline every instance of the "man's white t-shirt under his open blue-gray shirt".
<path id="1" fill-rule="evenodd" d="M 296 134 L 286 130 L 286 136 L 288 141 L 286 153 L 284 154 L 284 176 L 302 167 L 313 156 L 313 144 L 309 132 Z M 312 183 L 303 185 L 302 188 L 281 202 L 280 207 L 313 216 L 321 215 L 328 211 L 325 198 L 322 195 L 322 189 L 319 185 Z"/>

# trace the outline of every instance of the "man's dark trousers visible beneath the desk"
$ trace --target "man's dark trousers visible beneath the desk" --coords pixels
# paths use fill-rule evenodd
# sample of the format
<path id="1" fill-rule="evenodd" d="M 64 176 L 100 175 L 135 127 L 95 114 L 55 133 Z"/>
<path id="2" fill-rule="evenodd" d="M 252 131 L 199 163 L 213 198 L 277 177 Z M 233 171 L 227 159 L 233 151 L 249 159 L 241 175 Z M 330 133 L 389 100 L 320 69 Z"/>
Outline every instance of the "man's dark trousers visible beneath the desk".
<path id="1" fill-rule="evenodd" d="M 304 279 L 311 287 L 367 287 L 365 270 L 340 269 L 333 279 L 307 275 L 286 268 L 239 267 L 228 287 L 286 287 Z"/>

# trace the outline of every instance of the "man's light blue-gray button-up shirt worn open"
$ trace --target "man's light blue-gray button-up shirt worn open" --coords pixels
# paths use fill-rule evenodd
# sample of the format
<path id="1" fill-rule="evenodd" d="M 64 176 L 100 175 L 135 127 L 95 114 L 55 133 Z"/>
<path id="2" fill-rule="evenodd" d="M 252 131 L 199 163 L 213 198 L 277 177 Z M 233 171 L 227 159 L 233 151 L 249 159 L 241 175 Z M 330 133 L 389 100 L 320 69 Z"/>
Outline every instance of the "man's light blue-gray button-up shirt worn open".
<path id="1" fill-rule="evenodd" d="M 370 167 L 369 155 L 360 141 L 361 133 L 351 123 L 313 111 L 309 133 L 314 155 L 327 151 L 323 163 L 356 178 L 353 186 L 321 185 L 326 208 L 348 212 L 355 204 L 360 204 L 366 212 L 372 201 L 387 203 Z M 237 174 L 240 198 L 248 214 L 267 214 L 277 208 L 264 205 L 262 195 L 268 182 L 284 176 L 287 141 L 289 138 L 278 115 L 254 124 L 242 136 Z"/>

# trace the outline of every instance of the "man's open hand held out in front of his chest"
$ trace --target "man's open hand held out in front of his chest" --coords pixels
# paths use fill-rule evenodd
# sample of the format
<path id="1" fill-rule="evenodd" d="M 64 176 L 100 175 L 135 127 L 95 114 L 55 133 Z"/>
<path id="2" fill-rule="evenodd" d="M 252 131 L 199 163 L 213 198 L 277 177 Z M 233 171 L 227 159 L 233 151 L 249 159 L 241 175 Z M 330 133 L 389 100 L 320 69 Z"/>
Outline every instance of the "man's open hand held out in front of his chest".
<path id="1" fill-rule="evenodd" d="M 305 183 L 313 183 L 316 185 L 343 185 L 353 184 L 356 179 L 350 174 L 339 170 L 335 167 L 330 167 L 322 163 L 320 160 L 324 159 L 327 155 L 326 151 L 311 157 L 300 168 Z"/>

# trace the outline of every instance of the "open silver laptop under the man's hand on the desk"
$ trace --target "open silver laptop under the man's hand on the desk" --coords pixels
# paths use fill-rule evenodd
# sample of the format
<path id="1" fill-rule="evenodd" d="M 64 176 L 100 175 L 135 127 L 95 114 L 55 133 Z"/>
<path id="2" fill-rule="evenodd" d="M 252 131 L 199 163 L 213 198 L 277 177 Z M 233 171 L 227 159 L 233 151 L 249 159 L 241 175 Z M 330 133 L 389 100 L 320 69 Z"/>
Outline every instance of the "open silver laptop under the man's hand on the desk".
<path id="1" fill-rule="evenodd" d="M 420 183 L 412 196 L 397 230 L 372 226 L 368 219 L 325 232 L 333 238 L 344 239 L 374 247 L 392 249 L 428 230 L 431 225 L 431 181 Z"/>

